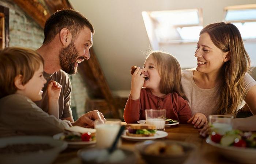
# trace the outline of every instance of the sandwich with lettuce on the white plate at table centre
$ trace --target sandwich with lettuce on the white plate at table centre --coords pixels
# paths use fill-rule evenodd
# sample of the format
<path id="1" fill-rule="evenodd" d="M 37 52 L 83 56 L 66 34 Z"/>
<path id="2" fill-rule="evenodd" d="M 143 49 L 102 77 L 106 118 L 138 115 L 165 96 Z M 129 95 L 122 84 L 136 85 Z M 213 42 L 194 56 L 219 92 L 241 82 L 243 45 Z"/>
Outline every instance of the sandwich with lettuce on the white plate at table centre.
<path id="1" fill-rule="evenodd" d="M 155 125 L 150 124 L 128 124 L 126 127 L 126 135 L 132 137 L 150 137 L 157 131 Z"/>

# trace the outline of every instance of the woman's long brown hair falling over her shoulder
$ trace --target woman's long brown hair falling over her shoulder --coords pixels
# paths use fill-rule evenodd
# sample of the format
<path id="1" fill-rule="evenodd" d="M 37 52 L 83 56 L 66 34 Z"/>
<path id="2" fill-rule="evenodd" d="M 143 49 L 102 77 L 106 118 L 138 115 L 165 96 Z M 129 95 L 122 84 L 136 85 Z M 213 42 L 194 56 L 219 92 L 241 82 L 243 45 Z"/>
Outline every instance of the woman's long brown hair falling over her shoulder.
<path id="1" fill-rule="evenodd" d="M 200 35 L 207 32 L 215 46 L 222 52 L 229 52 L 230 60 L 225 62 L 223 84 L 219 104 L 214 114 L 235 114 L 237 106 L 245 98 L 244 77 L 250 70 L 250 58 L 247 54 L 241 34 L 232 23 L 213 23 L 204 27 Z"/>

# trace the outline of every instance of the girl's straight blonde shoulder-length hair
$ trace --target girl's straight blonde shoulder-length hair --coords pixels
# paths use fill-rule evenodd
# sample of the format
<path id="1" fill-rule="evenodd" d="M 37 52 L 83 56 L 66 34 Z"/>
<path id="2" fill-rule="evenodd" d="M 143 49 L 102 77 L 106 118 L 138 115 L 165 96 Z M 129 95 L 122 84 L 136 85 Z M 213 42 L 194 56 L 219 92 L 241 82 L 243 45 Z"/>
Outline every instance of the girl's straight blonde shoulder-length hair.
<path id="1" fill-rule="evenodd" d="M 184 94 L 181 91 L 181 67 L 178 60 L 171 54 L 162 51 L 153 51 L 152 56 L 156 62 L 156 67 L 160 75 L 160 91 L 161 93 L 176 92 L 181 97 Z"/>

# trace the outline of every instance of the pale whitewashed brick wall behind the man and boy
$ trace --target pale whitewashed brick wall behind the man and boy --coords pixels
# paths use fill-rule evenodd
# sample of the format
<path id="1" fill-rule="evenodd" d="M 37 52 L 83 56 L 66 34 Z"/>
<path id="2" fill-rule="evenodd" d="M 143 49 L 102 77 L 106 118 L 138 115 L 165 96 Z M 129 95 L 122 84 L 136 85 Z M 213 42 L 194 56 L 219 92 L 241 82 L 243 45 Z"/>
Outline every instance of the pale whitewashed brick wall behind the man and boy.
<path id="1" fill-rule="evenodd" d="M 10 47 L 19 46 L 36 50 L 44 40 L 43 29 L 12 0 L 0 0 L 0 5 L 10 9 Z M 84 113 L 86 86 L 79 74 L 69 76 L 72 83 L 71 107 L 76 107 L 78 116 Z"/>

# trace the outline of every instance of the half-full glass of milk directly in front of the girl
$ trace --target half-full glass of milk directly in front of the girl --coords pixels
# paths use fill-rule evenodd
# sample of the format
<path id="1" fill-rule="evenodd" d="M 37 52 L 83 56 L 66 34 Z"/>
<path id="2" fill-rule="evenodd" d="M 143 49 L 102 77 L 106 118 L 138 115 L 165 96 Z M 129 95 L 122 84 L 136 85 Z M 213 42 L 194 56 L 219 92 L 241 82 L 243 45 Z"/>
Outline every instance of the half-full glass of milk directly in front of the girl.
<path id="1" fill-rule="evenodd" d="M 157 130 L 165 130 L 165 109 L 146 109 L 146 123 L 155 125 Z"/>

